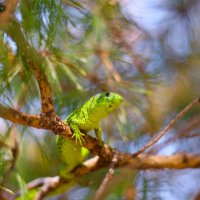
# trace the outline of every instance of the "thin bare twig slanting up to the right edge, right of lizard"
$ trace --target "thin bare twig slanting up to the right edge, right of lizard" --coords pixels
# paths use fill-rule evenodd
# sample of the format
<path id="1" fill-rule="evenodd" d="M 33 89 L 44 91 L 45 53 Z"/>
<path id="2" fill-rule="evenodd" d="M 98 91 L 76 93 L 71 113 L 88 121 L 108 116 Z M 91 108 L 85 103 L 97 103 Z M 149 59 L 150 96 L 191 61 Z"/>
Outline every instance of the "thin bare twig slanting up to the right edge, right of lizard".
<path id="1" fill-rule="evenodd" d="M 158 142 L 158 140 L 160 140 L 165 133 L 174 126 L 174 124 L 181 118 L 183 117 L 183 115 L 185 113 L 187 113 L 192 107 L 196 106 L 197 104 L 200 103 L 200 98 L 195 99 L 194 101 L 192 101 L 189 105 L 187 105 L 181 112 L 179 112 L 168 124 L 167 126 L 160 132 L 160 134 L 154 138 L 153 140 L 151 140 L 149 143 L 147 143 L 142 149 L 140 149 L 138 152 L 134 153 L 132 156 L 138 156 L 139 154 L 142 154 L 143 152 L 146 151 L 146 149 L 148 149 L 149 147 L 151 147 L 152 145 L 154 145 L 156 142 Z"/>

